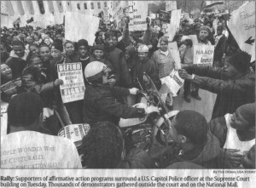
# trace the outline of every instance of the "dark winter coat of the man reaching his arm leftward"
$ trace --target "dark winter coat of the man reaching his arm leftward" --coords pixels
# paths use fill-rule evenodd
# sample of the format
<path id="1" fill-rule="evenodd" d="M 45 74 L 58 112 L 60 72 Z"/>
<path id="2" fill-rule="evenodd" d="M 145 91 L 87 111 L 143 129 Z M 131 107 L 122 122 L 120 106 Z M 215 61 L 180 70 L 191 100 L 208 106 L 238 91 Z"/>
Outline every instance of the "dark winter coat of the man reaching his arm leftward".
<path id="1" fill-rule="evenodd" d="M 195 74 L 193 79 L 200 88 L 206 89 L 217 95 L 212 111 L 212 119 L 223 117 L 226 113 L 234 113 L 244 104 L 255 101 L 255 74 L 247 71 L 240 77 L 228 79 L 224 70 L 212 66 L 188 66 L 185 68 L 190 74 Z"/>

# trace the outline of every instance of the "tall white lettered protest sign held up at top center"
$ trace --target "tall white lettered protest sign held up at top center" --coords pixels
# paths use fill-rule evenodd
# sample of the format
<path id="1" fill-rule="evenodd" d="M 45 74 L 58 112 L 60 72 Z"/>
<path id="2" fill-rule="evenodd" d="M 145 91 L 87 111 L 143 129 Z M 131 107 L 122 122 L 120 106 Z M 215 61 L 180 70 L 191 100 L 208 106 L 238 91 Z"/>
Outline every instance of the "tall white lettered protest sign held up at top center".
<path id="1" fill-rule="evenodd" d="M 132 13 L 131 13 L 132 11 Z M 133 1 L 130 6 L 129 13 L 132 20 L 130 20 L 129 31 L 146 31 L 148 16 L 148 2 L 146 1 Z"/>

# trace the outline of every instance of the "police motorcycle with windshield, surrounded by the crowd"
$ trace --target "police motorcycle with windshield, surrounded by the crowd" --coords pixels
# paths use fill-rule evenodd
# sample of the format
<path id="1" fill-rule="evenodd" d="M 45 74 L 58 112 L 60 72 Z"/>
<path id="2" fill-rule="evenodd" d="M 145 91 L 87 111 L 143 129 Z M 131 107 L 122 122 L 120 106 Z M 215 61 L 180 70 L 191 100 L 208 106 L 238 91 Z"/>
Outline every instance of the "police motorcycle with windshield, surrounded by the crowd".
<path id="1" fill-rule="evenodd" d="M 178 152 L 177 144 L 174 143 L 169 134 L 172 119 L 178 111 L 168 111 L 151 78 L 146 74 L 144 77 L 147 77 L 148 87 L 143 89 L 142 84 L 137 80 L 142 88 L 139 91 L 142 100 L 133 106 L 144 108 L 149 113 L 140 118 L 120 118 L 119 127 L 124 133 L 127 152 L 132 148 L 148 151 L 148 154 L 158 161 L 156 162 L 158 166 L 163 168 L 168 163 L 172 163 L 172 157 L 168 151 L 171 151 L 172 154 Z M 163 151 L 161 156 L 156 156 L 159 153 L 157 148 L 160 148 L 161 152 Z M 165 162 L 163 162 L 163 158 L 165 158 Z"/>

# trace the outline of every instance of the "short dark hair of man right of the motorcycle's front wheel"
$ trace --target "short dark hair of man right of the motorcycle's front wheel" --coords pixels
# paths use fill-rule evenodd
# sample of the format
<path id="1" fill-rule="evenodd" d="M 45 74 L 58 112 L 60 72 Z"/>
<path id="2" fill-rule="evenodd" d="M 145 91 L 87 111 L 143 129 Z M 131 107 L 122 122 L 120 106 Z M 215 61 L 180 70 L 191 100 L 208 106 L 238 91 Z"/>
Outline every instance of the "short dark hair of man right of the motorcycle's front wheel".
<path id="1" fill-rule="evenodd" d="M 177 134 L 186 136 L 195 145 L 207 141 L 207 119 L 197 111 L 179 111 L 175 117 Z"/>

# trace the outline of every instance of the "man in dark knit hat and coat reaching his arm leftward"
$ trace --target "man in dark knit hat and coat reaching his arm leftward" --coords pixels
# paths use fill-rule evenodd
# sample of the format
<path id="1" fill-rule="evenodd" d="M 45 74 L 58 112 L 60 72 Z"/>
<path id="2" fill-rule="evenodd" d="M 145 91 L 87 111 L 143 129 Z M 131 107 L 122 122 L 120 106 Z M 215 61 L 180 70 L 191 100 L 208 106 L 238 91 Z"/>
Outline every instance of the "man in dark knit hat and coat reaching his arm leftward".
<path id="1" fill-rule="evenodd" d="M 217 95 L 212 119 L 234 113 L 244 104 L 255 101 L 255 73 L 250 69 L 251 57 L 245 52 L 233 55 L 224 69 L 212 66 L 187 66 L 179 70 L 183 79 Z M 189 75 L 195 74 L 195 75 Z"/>

